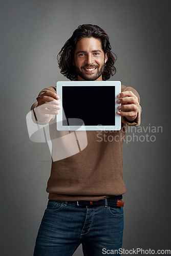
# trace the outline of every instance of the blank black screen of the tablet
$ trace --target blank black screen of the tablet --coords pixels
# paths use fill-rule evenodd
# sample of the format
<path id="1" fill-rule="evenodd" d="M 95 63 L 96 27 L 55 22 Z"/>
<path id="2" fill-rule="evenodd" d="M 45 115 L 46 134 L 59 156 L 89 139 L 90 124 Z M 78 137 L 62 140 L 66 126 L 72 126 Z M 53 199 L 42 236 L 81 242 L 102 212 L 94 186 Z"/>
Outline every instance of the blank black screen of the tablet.
<path id="1" fill-rule="evenodd" d="M 78 125 L 75 118 L 84 125 L 115 125 L 115 86 L 63 86 L 62 106 L 70 125 Z"/>

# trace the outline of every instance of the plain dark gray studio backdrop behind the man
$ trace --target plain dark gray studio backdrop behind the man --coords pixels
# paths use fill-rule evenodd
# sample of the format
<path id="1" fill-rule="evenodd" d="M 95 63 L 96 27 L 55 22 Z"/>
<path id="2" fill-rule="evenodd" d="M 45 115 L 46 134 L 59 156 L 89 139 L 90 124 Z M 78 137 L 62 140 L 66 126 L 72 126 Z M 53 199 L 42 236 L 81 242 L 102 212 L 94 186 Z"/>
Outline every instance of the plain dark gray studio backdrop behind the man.
<path id="1" fill-rule="evenodd" d="M 111 80 L 139 92 L 141 126 L 163 129 L 138 135 L 154 142 L 124 143 L 123 248 L 170 249 L 170 7 L 169 0 L 1 1 L 1 255 L 33 254 L 51 157 L 47 144 L 29 140 L 26 115 L 41 89 L 67 80 L 56 55 L 85 23 L 109 34 L 118 57 Z"/>

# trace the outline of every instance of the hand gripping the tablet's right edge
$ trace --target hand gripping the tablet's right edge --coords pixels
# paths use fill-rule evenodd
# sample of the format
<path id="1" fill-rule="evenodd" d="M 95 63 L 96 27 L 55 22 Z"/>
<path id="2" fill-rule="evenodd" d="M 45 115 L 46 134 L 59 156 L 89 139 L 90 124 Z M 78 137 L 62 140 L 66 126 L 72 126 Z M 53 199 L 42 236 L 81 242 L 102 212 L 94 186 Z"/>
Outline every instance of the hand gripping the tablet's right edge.
<path id="1" fill-rule="evenodd" d="M 116 102 L 121 103 L 116 113 L 126 117 L 129 121 L 134 121 L 138 114 L 139 102 L 137 96 L 132 91 L 125 91 L 117 95 L 119 98 Z"/>

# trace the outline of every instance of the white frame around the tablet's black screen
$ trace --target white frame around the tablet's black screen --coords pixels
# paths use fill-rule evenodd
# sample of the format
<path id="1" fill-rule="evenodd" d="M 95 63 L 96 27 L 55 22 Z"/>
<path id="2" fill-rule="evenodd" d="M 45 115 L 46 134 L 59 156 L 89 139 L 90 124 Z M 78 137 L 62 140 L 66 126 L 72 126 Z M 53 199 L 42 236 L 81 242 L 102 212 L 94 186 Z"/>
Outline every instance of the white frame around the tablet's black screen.
<path id="1" fill-rule="evenodd" d="M 114 86 L 115 87 L 115 125 L 70 125 L 62 126 L 62 120 L 65 120 L 65 116 L 62 116 L 62 87 L 63 86 Z M 117 95 L 121 92 L 121 81 L 58 81 L 56 83 L 56 92 L 60 97 L 61 109 L 56 115 L 56 127 L 58 131 L 119 131 L 121 129 L 121 116 L 117 115 L 118 104 Z"/>

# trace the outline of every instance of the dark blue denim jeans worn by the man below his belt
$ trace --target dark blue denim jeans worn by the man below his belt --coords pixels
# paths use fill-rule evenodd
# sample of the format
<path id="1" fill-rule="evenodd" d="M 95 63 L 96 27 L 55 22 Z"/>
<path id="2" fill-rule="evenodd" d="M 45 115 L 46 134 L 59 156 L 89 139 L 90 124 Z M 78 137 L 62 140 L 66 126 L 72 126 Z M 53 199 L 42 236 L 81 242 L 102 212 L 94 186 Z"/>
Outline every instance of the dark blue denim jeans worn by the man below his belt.
<path id="1" fill-rule="evenodd" d="M 123 207 L 109 207 L 104 200 L 105 206 L 77 206 L 49 200 L 34 256 L 70 256 L 80 244 L 84 255 L 104 255 L 107 250 L 118 250 L 119 254 Z"/>

